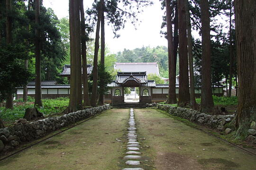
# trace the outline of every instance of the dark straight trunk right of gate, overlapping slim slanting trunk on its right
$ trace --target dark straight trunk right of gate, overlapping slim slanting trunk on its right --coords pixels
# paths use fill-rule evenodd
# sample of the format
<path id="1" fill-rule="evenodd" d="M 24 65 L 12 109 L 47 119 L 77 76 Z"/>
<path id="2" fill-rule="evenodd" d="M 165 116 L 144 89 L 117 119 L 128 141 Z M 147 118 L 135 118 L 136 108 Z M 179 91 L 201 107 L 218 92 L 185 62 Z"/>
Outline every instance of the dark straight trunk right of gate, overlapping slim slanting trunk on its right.
<path id="1" fill-rule="evenodd" d="M 190 103 L 189 94 L 189 70 L 188 70 L 188 40 L 186 26 L 185 0 L 178 0 L 179 13 L 179 100 L 178 106 Z"/>

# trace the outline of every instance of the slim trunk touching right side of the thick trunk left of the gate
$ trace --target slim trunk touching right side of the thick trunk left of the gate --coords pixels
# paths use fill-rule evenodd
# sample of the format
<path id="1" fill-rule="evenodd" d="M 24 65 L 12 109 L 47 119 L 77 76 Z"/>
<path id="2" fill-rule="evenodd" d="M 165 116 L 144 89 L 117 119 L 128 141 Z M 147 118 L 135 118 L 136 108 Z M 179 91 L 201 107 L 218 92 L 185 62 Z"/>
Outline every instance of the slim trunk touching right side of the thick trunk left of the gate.
<path id="1" fill-rule="evenodd" d="M 88 90 L 87 59 L 86 59 L 86 34 L 83 0 L 80 0 L 81 13 L 81 44 L 82 44 L 82 81 L 83 81 L 83 106 L 91 106 Z"/>

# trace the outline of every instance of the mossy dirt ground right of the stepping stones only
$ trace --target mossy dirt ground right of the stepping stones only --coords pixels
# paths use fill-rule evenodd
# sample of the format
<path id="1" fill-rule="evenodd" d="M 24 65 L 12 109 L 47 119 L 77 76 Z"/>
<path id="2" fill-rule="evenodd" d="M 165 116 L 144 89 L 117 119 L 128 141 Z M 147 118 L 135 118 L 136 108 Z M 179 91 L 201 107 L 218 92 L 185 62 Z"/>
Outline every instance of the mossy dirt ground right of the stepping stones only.
<path id="1" fill-rule="evenodd" d="M 138 139 L 155 170 L 256 170 L 256 157 L 154 109 L 134 109 Z M 144 140 L 142 140 L 144 139 Z"/>

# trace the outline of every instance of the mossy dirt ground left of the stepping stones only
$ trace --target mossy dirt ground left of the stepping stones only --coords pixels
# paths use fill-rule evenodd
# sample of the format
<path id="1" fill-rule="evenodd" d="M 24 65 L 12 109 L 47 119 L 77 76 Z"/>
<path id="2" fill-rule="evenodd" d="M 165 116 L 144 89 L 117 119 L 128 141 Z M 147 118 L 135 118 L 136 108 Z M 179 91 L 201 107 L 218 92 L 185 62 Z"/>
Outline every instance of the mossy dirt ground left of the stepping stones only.
<path id="1" fill-rule="evenodd" d="M 128 117 L 129 109 L 108 110 L 0 162 L 0 170 L 122 169 Z"/>

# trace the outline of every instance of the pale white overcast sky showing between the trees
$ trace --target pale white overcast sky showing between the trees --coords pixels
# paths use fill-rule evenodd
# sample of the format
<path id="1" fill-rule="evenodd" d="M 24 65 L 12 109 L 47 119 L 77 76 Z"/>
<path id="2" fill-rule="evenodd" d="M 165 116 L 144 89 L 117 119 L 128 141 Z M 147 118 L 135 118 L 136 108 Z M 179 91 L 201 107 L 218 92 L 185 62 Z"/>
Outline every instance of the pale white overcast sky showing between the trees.
<path id="1" fill-rule="evenodd" d="M 84 0 L 85 8 L 91 7 L 92 1 Z M 148 45 L 150 47 L 167 46 L 167 40 L 160 35 L 164 11 L 161 10 L 159 0 L 153 1 L 154 4 L 151 7 L 145 8 L 144 12 L 138 15 L 141 22 L 137 24 L 137 30 L 132 24 L 126 23 L 125 28 L 119 31 L 121 36 L 113 38 L 111 26 L 105 26 L 105 42 L 112 53 L 122 51 L 124 48 L 132 50 Z M 68 16 L 68 0 L 43 0 L 43 4 L 46 8 L 53 8 L 59 19 Z M 95 37 L 95 34 L 92 34 L 92 37 Z"/>

